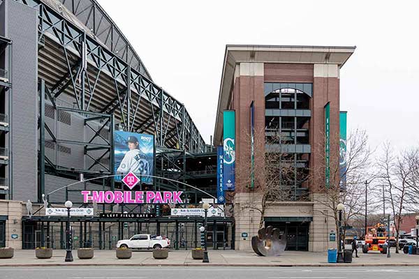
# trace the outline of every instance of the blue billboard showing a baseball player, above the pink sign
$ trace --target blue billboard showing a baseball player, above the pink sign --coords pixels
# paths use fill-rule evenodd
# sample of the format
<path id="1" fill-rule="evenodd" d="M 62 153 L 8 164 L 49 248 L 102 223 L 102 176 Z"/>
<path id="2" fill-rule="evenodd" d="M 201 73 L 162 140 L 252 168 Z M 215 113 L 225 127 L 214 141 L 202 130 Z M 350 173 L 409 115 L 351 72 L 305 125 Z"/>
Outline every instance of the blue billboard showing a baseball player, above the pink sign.
<path id="1" fill-rule="evenodd" d="M 115 181 L 121 181 L 128 172 L 133 172 L 142 183 L 152 184 L 154 175 L 154 136 L 124 131 L 115 131 Z"/>

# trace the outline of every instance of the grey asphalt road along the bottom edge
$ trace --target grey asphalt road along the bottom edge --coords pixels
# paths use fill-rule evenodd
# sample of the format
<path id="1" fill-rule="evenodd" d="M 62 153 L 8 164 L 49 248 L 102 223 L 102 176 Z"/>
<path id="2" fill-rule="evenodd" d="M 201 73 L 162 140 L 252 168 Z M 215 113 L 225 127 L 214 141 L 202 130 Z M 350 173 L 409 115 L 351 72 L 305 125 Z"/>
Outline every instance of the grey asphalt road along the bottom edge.
<path id="1" fill-rule="evenodd" d="M 1 279 L 398 279 L 419 278 L 419 266 L 335 267 L 4 267 Z"/>

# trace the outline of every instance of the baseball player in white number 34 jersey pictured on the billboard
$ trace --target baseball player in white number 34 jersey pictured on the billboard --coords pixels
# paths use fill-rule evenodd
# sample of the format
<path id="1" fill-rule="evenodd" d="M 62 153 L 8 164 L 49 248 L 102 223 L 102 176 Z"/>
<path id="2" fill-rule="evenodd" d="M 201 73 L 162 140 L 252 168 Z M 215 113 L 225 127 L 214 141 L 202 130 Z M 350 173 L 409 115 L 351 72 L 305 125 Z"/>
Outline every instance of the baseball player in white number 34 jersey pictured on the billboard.
<path id="1" fill-rule="evenodd" d="M 130 135 L 127 142 L 129 151 L 125 153 L 121 164 L 119 164 L 117 173 L 128 174 L 128 172 L 133 172 L 134 174 L 149 174 L 149 163 L 145 155 L 138 149 L 137 137 Z"/>

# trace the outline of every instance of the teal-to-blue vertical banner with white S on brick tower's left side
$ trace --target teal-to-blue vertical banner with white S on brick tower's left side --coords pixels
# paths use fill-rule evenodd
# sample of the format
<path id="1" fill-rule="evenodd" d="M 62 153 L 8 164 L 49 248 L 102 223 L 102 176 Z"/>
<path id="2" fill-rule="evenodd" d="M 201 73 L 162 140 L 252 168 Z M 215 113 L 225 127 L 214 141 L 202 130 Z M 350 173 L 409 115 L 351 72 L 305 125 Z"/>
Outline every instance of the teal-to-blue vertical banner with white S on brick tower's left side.
<path id="1" fill-rule="evenodd" d="M 223 112 L 223 190 L 235 190 L 235 112 Z"/>

